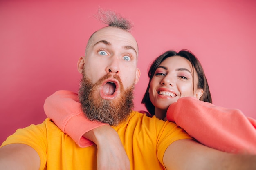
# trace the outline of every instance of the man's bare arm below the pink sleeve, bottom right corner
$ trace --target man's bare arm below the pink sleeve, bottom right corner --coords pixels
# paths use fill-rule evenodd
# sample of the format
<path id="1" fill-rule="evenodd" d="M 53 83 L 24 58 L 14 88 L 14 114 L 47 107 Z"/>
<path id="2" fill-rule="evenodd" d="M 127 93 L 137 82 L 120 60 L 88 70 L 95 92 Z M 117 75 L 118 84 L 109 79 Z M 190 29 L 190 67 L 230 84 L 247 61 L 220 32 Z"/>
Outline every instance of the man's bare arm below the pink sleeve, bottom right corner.
<path id="1" fill-rule="evenodd" d="M 255 170 L 256 155 L 221 152 L 191 139 L 173 142 L 164 153 L 167 170 Z"/>

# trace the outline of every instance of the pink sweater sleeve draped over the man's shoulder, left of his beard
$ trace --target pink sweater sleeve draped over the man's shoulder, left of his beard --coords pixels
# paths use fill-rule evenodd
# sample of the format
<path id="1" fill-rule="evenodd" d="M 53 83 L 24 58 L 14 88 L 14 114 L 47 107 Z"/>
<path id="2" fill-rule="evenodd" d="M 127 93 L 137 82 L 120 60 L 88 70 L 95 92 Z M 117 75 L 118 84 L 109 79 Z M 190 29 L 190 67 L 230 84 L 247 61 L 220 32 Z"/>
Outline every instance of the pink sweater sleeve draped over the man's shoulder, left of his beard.
<path id="1" fill-rule="evenodd" d="M 56 91 L 47 97 L 44 104 L 47 117 L 78 144 L 80 147 L 88 147 L 94 144 L 83 137 L 86 132 L 97 128 L 103 123 L 88 120 L 81 110 L 81 103 L 76 93 L 71 91 Z"/>

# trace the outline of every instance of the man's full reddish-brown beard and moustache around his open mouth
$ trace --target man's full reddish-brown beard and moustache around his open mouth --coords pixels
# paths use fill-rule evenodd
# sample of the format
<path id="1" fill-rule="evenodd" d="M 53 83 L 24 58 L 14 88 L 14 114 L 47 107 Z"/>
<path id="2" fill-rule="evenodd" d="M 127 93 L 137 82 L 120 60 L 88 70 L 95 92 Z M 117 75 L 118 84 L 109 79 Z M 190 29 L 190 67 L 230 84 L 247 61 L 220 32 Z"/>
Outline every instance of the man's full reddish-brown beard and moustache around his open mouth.
<path id="1" fill-rule="evenodd" d="M 97 120 L 111 126 L 117 126 L 118 124 L 127 120 L 133 109 L 133 90 L 134 84 L 124 90 L 121 79 L 118 75 L 114 78 L 118 80 L 120 84 L 120 96 L 113 100 L 102 99 L 99 92 L 100 86 L 103 81 L 111 75 L 107 74 L 95 84 L 92 84 L 91 80 L 83 73 L 79 89 L 79 100 L 82 104 L 82 110 L 89 120 Z"/>

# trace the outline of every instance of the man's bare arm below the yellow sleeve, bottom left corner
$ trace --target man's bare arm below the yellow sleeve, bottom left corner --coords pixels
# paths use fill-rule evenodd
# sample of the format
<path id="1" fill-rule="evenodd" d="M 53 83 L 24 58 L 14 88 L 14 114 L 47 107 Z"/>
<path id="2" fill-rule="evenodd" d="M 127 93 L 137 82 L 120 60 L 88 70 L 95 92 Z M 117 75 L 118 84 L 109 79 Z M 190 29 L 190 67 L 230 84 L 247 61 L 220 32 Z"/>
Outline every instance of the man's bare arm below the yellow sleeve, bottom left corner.
<path id="1" fill-rule="evenodd" d="M 39 170 L 40 157 L 26 144 L 9 144 L 0 148 L 0 170 Z"/>

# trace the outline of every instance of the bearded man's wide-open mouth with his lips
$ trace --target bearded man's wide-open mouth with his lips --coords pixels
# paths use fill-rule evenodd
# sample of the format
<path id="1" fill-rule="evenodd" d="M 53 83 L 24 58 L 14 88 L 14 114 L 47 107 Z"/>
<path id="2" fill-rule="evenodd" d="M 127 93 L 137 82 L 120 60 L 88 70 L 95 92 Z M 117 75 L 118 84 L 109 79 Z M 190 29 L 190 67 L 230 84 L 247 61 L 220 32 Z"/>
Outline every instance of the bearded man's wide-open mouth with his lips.
<path id="1" fill-rule="evenodd" d="M 112 100 L 117 97 L 119 82 L 116 79 L 107 79 L 101 86 L 100 95 L 103 99 Z"/>

